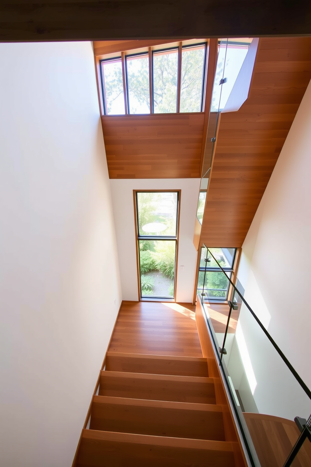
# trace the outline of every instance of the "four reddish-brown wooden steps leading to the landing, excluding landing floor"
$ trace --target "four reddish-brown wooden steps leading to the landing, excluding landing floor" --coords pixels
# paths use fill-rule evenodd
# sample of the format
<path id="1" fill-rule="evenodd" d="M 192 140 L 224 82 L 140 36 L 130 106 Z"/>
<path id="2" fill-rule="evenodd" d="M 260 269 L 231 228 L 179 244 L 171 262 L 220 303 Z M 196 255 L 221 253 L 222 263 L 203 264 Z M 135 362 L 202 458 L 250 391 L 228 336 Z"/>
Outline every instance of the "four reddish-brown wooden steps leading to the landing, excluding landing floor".
<path id="1" fill-rule="evenodd" d="M 238 467 L 227 438 L 206 358 L 108 352 L 76 465 Z"/>

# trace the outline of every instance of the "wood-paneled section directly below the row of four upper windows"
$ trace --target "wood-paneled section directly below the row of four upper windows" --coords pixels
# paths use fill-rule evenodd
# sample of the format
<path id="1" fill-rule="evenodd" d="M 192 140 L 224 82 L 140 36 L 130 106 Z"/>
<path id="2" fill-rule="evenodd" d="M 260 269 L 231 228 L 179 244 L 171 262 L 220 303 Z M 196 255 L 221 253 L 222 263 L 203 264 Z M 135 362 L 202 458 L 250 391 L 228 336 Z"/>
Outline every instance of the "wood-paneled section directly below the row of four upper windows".
<path id="1" fill-rule="evenodd" d="M 204 113 L 102 117 L 110 178 L 200 177 Z"/>

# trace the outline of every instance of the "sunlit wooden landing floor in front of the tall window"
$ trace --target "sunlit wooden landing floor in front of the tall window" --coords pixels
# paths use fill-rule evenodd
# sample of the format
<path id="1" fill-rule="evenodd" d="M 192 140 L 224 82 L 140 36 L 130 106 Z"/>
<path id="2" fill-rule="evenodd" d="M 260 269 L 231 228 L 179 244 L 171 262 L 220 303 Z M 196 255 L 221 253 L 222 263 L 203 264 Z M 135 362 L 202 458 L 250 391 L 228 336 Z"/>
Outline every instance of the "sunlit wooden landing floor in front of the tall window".
<path id="1" fill-rule="evenodd" d="M 108 352 L 202 357 L 190 303 L 123 301 Z"/>

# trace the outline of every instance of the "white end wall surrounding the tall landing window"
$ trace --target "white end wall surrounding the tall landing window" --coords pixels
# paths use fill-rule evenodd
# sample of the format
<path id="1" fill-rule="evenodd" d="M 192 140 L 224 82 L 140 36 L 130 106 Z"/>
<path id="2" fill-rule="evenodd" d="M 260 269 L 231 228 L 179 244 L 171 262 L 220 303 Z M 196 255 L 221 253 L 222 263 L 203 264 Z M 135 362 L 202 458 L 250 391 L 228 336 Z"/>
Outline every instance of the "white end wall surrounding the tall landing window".
<path id="1" fill-rule="evenodd" d="M 194 221 L 200 179 L 113 179 L 110 183 L 123 299 L 138 300 L 133 190 L 181 190 L 176 300 L 192 302 L 197 259 Z M 180 266 L 184 266 L 183 271 Z"/>

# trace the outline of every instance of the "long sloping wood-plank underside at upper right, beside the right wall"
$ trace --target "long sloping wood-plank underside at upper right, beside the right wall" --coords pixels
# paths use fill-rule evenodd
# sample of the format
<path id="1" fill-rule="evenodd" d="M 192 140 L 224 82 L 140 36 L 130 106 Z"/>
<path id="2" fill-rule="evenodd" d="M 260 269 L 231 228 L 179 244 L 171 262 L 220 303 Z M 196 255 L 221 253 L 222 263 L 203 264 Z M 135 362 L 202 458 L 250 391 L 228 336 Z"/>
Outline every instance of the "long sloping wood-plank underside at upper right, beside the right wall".
<path id="1" fill-rule="evenodd" d="M 249 97 L 221 115 L 200 243 L 241 247 L 311 79 L 311 38 L 262 38 Z"/>

